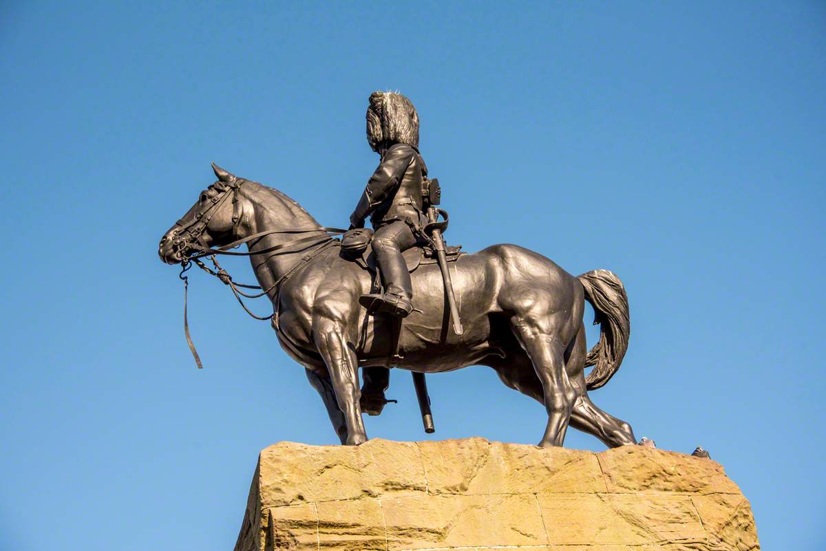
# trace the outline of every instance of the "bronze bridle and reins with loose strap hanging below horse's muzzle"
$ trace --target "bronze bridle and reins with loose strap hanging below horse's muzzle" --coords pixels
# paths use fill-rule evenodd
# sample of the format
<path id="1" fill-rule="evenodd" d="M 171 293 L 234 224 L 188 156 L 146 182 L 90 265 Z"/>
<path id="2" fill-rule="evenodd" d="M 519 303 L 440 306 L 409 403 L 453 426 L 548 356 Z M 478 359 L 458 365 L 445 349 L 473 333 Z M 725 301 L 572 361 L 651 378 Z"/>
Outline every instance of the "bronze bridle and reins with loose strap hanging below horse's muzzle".
<path id="1" fill-rule="evenodd" d="M 235 239 L 235 241 L 233 241 L 232 243 L 223 245 L 221 247 L 209 247 L 203 239 L 203 233 L 207 230 L 207 227 L 209 226 L 212 217 L 215 216 L 215 213 L 221 208 L 221 205 L 224 205 L 226 200 L 228 200 L 230 197 L 232 198 L 231 232 L 233 238 L 238 237 L 238 226 L 240 224 L 241 219 L 240 203 L 238 199 L 241 186 L 244 184 L 244 182 L 246 182 L 246 180 L 244 180 L 243 178 L 231 176 L 230 178 L 230 181 L 219 180 L 216 181 L 216 183 L 209 186 L 207 188 L 207 191 L 205 191 L 204 193 L 208 193 L 208 191 L 216 191 L 216 194 L 212 195 L 209 198 L 211 205 L 209 205 L 207 209 L 199 210 L 193 219 L 190 219 L 188 221 L 178 220 L 178 222 L 175 223 L 175 226 L 178 226 L 179 229 L 173 231 L 171 236 L 173 250 L 175 252 L 178 252 L 178 254 L 181 257 L 181 273 L 178 274 L 178 277 L 181 280 L 183 280 L 183 332 L 187 338 L 189 350 L 192 352 L 192 357 L 195 359 L 195 363 L 198 366 L 198 369 L 202 369 L 203 365 L 200 356 L 198 356 L 198 353 L 195 350 L 195 344 L 192 342 L 192 336 L 189 333 L 189 322 L 187 316 L 187 295 L 189 287 L 189 278 L 188 275 L 185 275 L 186 272 L 192 267 L 193 262 L 203 271 L 206 271 L 210 275 L 214 275 L 216 278 L 221 280 L 221 282 L 225 285 L 229 285 L 230 290 L 232 290 L 232 294 L 235 295 L 235 299 L 238 300 L 238 303 L 241 305 L 242 308 L 244 308 L 244 311 L 248 313 L 251 317 L 262 321 L 269 321 L 275 315 L 274 312 L 265 317 L 258 316 L 251 312 L 249 308 L 247 308 L 247 305 L 244 304 L 244 300 L 241 299 L 241 297 L 245 297 L 247 299 L 258 299 L 270 293 L 273 290 L 276 290 L 277 292 L 280 291 L 281 285 L 285 281 L 287 281 L 287 279 L 289 279 L 291 275 L 296 273 L 301 266 L 304 266 L 306 262 L 316 257 L 321 252 L 327 250 L 327 248 L 329 248 L 330 246 L 340 243 L 338 240 L 333 239 L 331 236 L 339 235 L 347 231 L 341 228 L 327 228 L 325 226 L 308 229 L 273 229 L 259 233 L 254 233 L 246 238 Z M 272 247 L 265 247 L 254 252 L 239 252 L 230 250 L 236 247 L 240 247 L 244 243 L 258 243 L 258 241 L 261 238 L 276 233 L 290 233 L 300 235 L 301 233 L 319 232 L 324 233 L 324 235 L 314 235 L 306 238 L 292 239 L 287 243 L 279 243 L 278 245 L 273 245 Z M 269 285 L 267 289 L 263 289 L 260 285 L 244 285 L 242 283 L 236 283 L 234 280 L 232 280 L 232 276 L 223 268 L 221 268 L 221 265 L 218 263 L 218 260 L 216 258 L 217 255 L 227 255 L 233 257 L 251 257 L 253 255 L 262 255 L 270 252 L 273 253 L 272 255 L 270 255 L 270 257 L 273 257 L 278 254 L 301 252 L 306 249 L 311 249 L 311 251 L 307 252 L 303 257 L 301 257 L 301 259 L 297 261 L 295 265 L 293 265 L 289 270 L 284 272 L 284 274 L 281 277 L 279 277 L 278 280 L 275 280 L 272 285 Z M 212 265 L 215 267 L 214 270 L 212 270 L 209 266 L 205 265 L 201 261 L 203 257 L 211 257 Z M 267 260 L 270 257 L 267 257 Z M 244 291 L 241 289 L 259 290 L 260 292 L 256 294 L 247 294 L 244 293 Z M 278 306 L 276 306 L 276 308 L 278 308 Z"/>

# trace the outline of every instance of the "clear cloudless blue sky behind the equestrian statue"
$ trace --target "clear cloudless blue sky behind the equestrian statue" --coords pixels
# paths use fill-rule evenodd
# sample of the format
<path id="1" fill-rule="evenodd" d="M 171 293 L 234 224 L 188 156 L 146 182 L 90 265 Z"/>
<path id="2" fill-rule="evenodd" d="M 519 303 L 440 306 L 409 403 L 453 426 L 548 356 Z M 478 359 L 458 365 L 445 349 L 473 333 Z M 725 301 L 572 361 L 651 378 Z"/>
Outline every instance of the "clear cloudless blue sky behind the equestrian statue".
<path id="1" fill-rule="evenodd" d="M 211 161 L 347 224 L 376 89 L 419 110 L 449 243 L 622 278 L 629 352 L 594 401 L 710 450 L 763 549 L 824 549 L 824 2 L 330 3 L 2 2 L 0 549 L 231 549 L 259 450 L 336 441 L 200 273 L 196 370 L 156 250 Z M 487 368 L 429 381 L 432 437 L 539 441 L 544 408 Z M 410 375 L 388 394 L 368 435 L 427 438 Z"/>

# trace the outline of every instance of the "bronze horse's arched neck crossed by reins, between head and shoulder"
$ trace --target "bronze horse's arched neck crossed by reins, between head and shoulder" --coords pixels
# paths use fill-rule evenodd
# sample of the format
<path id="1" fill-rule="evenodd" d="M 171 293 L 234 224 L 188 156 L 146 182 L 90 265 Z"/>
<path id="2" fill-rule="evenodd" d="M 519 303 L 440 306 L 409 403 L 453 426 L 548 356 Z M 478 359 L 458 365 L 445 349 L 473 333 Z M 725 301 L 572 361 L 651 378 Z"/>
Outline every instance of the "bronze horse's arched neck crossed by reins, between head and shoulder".
<path id="1" fill-rule="evenodd" d="M 248 235 L 268 230 L 314 230 L 316 228 L 319 238 L 326 235 L 316 219 L 287 195 L 254 182 L 250 182 L 244 188 L 244 195 L 247 199 L 244 208 L 249 208 L 252 211 L 244 213 L 244 228 Z M 314 235 L 316 233 L 313 232 L 273 233 L 265 235 L 257 242 L 252 243 L 249 247 L 249 252 L 252 253 L 270 247 L 287 246 L 283 251 L 265 252 L 260 255 L 253 254 L 249 257 L 259 284 L 264 289 L 268 289 L 282 275 L 286 274 L 293 266 L 296 266 L 297 262 L 301 261 L 301 257 L 306 254 L 307 251 L 304 248 L 306 245 L 297 245 L 293 249 L 288 246 L 289 242 Z"/>

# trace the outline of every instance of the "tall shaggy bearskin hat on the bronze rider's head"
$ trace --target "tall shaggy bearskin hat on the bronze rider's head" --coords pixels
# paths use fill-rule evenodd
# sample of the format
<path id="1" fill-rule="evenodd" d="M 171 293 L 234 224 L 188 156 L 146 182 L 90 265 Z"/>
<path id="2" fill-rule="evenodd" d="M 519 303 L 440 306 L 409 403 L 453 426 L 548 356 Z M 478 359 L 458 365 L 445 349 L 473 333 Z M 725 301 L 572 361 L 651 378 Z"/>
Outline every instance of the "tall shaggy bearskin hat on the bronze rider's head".
<path id="1" fill-rule="evenodd" d="M 367 141 L 373 151 L 392 144 L 419 147 L 419 114 L 413 103 L 396 92 L 373 92 L 367 108 Z"/>

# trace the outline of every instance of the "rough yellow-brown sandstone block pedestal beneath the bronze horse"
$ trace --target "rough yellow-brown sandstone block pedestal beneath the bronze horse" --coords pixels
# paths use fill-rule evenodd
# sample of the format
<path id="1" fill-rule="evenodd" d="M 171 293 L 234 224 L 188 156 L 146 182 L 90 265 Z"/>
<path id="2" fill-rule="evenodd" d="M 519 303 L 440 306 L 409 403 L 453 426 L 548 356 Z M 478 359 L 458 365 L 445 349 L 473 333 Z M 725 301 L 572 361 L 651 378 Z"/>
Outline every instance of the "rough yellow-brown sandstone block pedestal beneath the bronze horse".
<path id="1" fill-rule="evenodd" d="M 282 442 L 261 452 L 235 551 L 752 551 L 751 507 L 710 459 L 481 438 Z"/>

